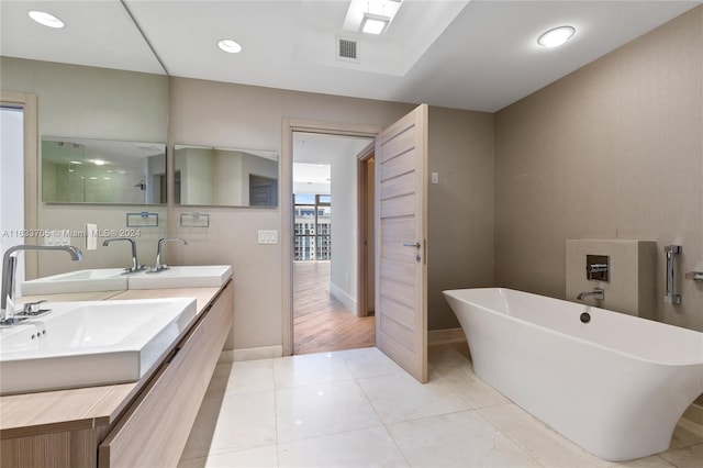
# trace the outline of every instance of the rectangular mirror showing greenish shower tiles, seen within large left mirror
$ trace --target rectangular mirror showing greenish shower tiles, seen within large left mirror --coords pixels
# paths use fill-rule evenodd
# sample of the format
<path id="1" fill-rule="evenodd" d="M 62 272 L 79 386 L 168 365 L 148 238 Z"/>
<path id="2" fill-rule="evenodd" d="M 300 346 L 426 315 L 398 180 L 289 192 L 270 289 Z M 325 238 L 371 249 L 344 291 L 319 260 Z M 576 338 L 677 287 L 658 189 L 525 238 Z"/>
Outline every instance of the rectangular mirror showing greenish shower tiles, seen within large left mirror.
<path id="1" fill-rule="evenodd" d="M 166 203 L 166 145 L 42 138 L 46 203 Z"/>

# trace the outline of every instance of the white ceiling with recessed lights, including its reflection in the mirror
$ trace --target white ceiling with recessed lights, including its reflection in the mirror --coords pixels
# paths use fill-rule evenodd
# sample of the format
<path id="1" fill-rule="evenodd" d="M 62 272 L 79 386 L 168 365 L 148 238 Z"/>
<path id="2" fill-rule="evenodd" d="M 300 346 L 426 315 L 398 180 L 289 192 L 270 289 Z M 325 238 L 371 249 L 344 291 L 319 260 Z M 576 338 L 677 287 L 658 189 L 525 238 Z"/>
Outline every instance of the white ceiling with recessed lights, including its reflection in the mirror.
<path id="1" fill-rule="evenodd" d="M 370 36 L 344 30 L 342 0 L 0 0 L 0 54 L 494 112 L 701 3 L 404 0 Z M 562 24 L 577 29 L 565 46 L 536 44 Z M 225 37 L 243 52 L 220 51 Z M 358 63 L 337 59 L 339 37 L 357 42 Z"/>

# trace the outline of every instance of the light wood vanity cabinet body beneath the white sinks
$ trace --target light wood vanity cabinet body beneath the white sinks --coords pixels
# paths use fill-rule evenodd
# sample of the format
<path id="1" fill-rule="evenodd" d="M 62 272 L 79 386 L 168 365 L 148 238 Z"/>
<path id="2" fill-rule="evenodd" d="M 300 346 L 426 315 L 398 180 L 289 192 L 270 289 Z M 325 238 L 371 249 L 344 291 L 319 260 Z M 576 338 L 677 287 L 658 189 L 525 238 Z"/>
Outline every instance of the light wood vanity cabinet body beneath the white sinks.
<path id="1" fill-rule="evenodd" d="M 137 294 L 141 292 L 148 294 L 148 291 Z M 148 380 L 137 386 L 116 386 L 115 389 L 121 388 L 118 393 L 127 391 L 123 387 L 135 387 L 135 390 L 129 395 L 124 393 L 125 398 L 111 400 L 113 402 L 94 417 L 75 421 L 53 419 L 47 424 L 3 427 L 0 433 L 0 467 L 177 466 L 232 328 L 233 311 L 234 286 L 230 280 L 199 313 L 190 331 Z M 111 388 L 94 389 L 109 399 L 107 395 Z M 86 394 L 83 391 L 92 390 L 74 390 L 80 395 Z M 19 404 L 8 400 L 8 408 L 2 414 L 5 414 L 4 410 L 7 414 L 23 411 L 26 408 L 24 402 L 36 403 L 34 406 L 37 409 L 49 408 L 47 405 L 60 408 L 49 402 L 62 405 L 68 398 L 75 405 L 77 401 L 71 392 L 20 395 Z M 90 405 L 87 401 L 86 404 Z M 33 421 L 33 417 L 27 421 Z"/>

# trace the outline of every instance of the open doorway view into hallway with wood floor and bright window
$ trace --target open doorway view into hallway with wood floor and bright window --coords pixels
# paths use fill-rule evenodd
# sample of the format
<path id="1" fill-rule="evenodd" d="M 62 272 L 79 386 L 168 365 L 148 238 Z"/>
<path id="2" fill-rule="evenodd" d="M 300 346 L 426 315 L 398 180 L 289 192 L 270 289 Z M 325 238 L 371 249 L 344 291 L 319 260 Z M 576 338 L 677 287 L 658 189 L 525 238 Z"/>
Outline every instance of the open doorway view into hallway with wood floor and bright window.
<path id="1" fill-rule="evenodd" d="M 357 156 L 371 141 L 292 134 L 294 354 L 375 345 L 373 317 L 358 316 L 357 291 Z"/>

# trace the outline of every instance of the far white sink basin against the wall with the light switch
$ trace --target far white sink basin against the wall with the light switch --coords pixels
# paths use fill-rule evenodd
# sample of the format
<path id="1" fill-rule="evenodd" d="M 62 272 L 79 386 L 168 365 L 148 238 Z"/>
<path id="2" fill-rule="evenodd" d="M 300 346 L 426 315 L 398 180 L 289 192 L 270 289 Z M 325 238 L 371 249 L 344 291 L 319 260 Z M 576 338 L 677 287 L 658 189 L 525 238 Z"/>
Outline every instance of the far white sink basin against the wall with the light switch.
<path id="1" fill-rule="evenodd" d="M 175 266 L 130 276 L 130 289 L 219 288 L 232 276 L 230 265 Z"/>

